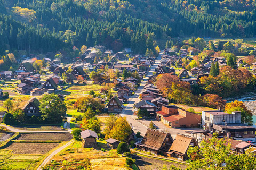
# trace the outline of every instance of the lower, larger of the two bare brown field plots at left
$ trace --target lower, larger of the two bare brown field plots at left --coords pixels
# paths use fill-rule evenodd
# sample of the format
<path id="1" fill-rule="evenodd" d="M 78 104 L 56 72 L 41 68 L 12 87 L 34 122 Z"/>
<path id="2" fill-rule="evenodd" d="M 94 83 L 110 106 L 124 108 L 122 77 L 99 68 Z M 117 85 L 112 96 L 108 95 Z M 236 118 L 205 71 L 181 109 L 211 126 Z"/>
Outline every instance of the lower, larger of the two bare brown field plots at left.
<path id="1" fill-rule="evenodd" d="M 46 154 L 59 143 L 12 143 L 5 149 L 13 150 L 13 154 Z"/>

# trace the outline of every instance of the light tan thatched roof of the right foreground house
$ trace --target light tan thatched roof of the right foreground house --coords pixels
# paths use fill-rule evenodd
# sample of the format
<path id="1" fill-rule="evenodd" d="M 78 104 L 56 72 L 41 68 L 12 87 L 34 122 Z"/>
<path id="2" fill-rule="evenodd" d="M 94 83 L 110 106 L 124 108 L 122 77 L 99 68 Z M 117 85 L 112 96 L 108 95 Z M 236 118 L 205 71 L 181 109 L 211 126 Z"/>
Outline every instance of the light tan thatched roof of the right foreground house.
<path id="1" fill-rule="evenodd" d="M 179 152 L 181 154 L 186 154 L 191 141 L 195 138 L 191 138 L 185 135 L 177 134 L 175 140 L 172 143 L 171 148 L 169 149 L 169 152 Z M 196 142 L 196 140 L 195 140 Z M 194 143 L 195 145 L 195 143 Z"/>

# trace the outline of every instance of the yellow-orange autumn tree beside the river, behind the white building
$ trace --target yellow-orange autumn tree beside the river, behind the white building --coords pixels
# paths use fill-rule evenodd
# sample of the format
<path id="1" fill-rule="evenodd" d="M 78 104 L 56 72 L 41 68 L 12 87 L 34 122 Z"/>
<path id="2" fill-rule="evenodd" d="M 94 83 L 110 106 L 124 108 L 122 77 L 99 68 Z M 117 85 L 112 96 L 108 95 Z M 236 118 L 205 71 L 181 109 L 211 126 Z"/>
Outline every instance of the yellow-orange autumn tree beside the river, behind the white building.
<path id="1" fill-rule="evenodd" d="M 241 111 L 241 120 L 246 124 L 252 125 L 252 112 L 247 109 L 243 101 L 235 100 L 233 102 L 227 103 L 225 106 L 225 111 L 231 114 L 234 111 Z"/>

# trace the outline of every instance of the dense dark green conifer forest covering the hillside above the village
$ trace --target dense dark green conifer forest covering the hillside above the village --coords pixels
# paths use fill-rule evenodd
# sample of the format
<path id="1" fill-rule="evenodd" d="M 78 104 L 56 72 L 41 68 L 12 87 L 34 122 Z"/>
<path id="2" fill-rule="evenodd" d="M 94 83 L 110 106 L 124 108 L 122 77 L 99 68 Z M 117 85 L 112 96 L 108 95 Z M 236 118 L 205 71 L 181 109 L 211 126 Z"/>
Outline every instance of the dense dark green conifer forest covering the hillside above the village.
<path id="1" fill-rule="evenodd" d="M 0 0 L 0 54 L 82 45 L 145 53 L 148 37 L 254 37 L 255 6 L 254 0 Z"/>

